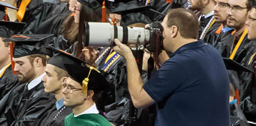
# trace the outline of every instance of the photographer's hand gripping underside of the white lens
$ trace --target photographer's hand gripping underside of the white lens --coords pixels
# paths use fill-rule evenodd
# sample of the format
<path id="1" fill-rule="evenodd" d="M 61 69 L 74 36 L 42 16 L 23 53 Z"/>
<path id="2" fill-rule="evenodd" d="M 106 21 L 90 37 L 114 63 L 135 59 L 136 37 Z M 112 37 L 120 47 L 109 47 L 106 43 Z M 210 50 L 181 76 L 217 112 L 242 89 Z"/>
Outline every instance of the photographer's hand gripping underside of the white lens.
<path id="1" fill-rule="evenodd" d="M 122 44 L 118 39 L 115 39 L 115 44 L 114 50 L 116 53 L 122 55 L 125 59 L 127 59 L 129 56 L 133 56 L 132 50 L 125 44 Z"/>

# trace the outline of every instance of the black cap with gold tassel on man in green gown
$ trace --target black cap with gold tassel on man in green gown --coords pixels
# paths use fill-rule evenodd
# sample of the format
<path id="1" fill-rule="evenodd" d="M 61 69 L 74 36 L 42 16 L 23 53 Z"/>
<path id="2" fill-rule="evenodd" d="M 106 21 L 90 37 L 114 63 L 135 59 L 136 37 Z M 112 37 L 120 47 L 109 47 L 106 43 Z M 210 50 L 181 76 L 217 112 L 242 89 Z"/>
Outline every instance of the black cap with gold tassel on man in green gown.
<path id="1" fill-rule="evenodd" d="M 103 91 L 107 86 L 107 81 L 101 72 L 95 67 L 82 67 L 74 64 L 64 64 L 70 77 L 80 83 L 83 94 L 87 95 L 88 90 Z"/>

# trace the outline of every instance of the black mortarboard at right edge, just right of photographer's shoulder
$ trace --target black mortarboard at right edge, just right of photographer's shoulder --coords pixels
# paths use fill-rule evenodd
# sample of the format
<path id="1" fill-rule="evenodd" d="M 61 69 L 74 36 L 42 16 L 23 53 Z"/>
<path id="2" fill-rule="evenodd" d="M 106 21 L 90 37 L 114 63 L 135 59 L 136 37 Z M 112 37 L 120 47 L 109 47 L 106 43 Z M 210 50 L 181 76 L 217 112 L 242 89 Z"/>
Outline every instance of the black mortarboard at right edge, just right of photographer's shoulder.
<path id="1" fill-rule="evenodd" d="M 233 71 L 245 71 L 254 73 L 249 68 L 242 66 L 240 63 L 237 63 L 235 60 L 232 60 L 230 58 L 223 58 L 223 60 L 227 69 L 231 69 Z"/>

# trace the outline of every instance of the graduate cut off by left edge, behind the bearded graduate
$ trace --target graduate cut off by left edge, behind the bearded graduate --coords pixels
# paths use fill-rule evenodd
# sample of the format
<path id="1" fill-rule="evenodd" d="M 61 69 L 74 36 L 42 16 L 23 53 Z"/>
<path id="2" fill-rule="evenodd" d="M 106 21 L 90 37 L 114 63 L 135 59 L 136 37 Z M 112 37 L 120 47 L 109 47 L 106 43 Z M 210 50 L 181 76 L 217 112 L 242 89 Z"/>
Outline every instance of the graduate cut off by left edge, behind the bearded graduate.
<path id="1" fill-rule="evenodd" d="M 12 72 L 9 43 L 4 43 L 3 40 L 21 31 L 24 25 L 25 23 L 20 22 L 0 21 L 0 100 L 19 85 L 18 77 Z"/>

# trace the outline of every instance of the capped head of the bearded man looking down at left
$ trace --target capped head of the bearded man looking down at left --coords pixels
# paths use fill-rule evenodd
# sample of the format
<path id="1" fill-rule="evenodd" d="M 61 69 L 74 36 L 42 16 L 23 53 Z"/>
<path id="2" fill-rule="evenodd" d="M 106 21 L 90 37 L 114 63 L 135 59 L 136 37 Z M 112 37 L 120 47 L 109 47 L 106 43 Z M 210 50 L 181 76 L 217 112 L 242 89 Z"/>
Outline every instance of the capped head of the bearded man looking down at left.
<path id="1" fill-rule="evenodd" d="M 51 53 L 45 48 L 45 41 L 52 35 L 23 34 L 14 35 L 4 41 L 14 41 L 13 60 L 14 71 L 19 81 L 29 83 L 41 76 L 46 67 L 47 56 Z"/>

